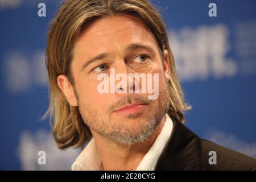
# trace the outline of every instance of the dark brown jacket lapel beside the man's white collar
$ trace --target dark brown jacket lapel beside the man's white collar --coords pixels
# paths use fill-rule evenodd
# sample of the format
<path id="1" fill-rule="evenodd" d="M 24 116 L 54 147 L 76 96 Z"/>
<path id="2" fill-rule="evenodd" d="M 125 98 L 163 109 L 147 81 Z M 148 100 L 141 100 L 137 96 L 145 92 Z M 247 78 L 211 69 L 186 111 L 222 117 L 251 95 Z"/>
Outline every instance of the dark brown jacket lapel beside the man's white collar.
<path id="1" fill-rule="evenodd" d="M 201 139 L 172 117 L 174 126 L 155 170 L 204 170 Z"/>

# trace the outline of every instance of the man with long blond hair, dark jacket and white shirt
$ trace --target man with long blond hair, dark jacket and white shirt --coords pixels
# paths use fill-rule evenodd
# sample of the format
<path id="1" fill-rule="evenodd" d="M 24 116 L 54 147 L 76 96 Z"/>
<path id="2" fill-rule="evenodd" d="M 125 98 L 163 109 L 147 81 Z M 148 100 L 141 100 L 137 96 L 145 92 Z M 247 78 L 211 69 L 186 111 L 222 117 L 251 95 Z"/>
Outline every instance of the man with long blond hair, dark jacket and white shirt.
<path id="1" fill-rule="evenodd" d="M 256 167 L 183 125 L 189 106 L 167 30 L 146 0 L 65 1 L 49 29 L 46 64 L 58 147 L 89 142 L 73 170 Z"/>

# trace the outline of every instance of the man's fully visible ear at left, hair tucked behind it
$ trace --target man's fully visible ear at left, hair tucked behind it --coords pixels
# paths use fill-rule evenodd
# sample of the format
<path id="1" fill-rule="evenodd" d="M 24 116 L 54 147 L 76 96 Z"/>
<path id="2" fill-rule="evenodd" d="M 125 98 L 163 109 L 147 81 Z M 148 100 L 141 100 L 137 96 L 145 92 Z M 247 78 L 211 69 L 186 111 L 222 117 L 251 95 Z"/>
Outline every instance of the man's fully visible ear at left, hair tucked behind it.
<path id="1" fill-rule="evenodd" d="M 64 75 L 59 75 L 57 77 L 57 84 L 59 88 L 62 90 L 62 92 L 64 93 L 66 99 L 68 100 L 68 103 L 71 106 L 76 107 L 78 105 L 76 100 L 76 95 L 71 82 L 68 81 L 68 78 Z"/>

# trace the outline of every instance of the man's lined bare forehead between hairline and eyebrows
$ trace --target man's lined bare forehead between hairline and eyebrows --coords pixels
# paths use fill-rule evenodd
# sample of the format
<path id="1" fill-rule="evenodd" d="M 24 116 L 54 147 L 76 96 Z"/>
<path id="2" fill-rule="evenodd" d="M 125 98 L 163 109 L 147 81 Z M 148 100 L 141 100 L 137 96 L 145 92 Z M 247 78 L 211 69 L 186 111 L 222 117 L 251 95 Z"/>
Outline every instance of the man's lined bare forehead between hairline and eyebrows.
<path id="1" fill-rule="evenodd" d="M 74 56 L 91 56 L 99 51 L 122 51 L 131 43 L 157 46 L 146 26 L 134 16 L 108 16 L 97 19 L 84 28 L 77 38 Z"/>

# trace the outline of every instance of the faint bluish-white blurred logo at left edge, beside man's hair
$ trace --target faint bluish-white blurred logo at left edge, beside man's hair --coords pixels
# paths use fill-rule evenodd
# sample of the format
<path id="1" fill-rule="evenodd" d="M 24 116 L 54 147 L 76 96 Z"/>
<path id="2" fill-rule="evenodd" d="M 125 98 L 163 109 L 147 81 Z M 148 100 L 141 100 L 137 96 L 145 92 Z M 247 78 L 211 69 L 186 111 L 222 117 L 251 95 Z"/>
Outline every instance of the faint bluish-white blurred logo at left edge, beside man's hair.
<path id="1" fill-rule="evenodd" d="M 47 86 L 44 51 L 26 56 L 19 51 L 7 53 L 4 61 L 5 83 L 11 92 L 28 92 L 33 86 Z"/>

